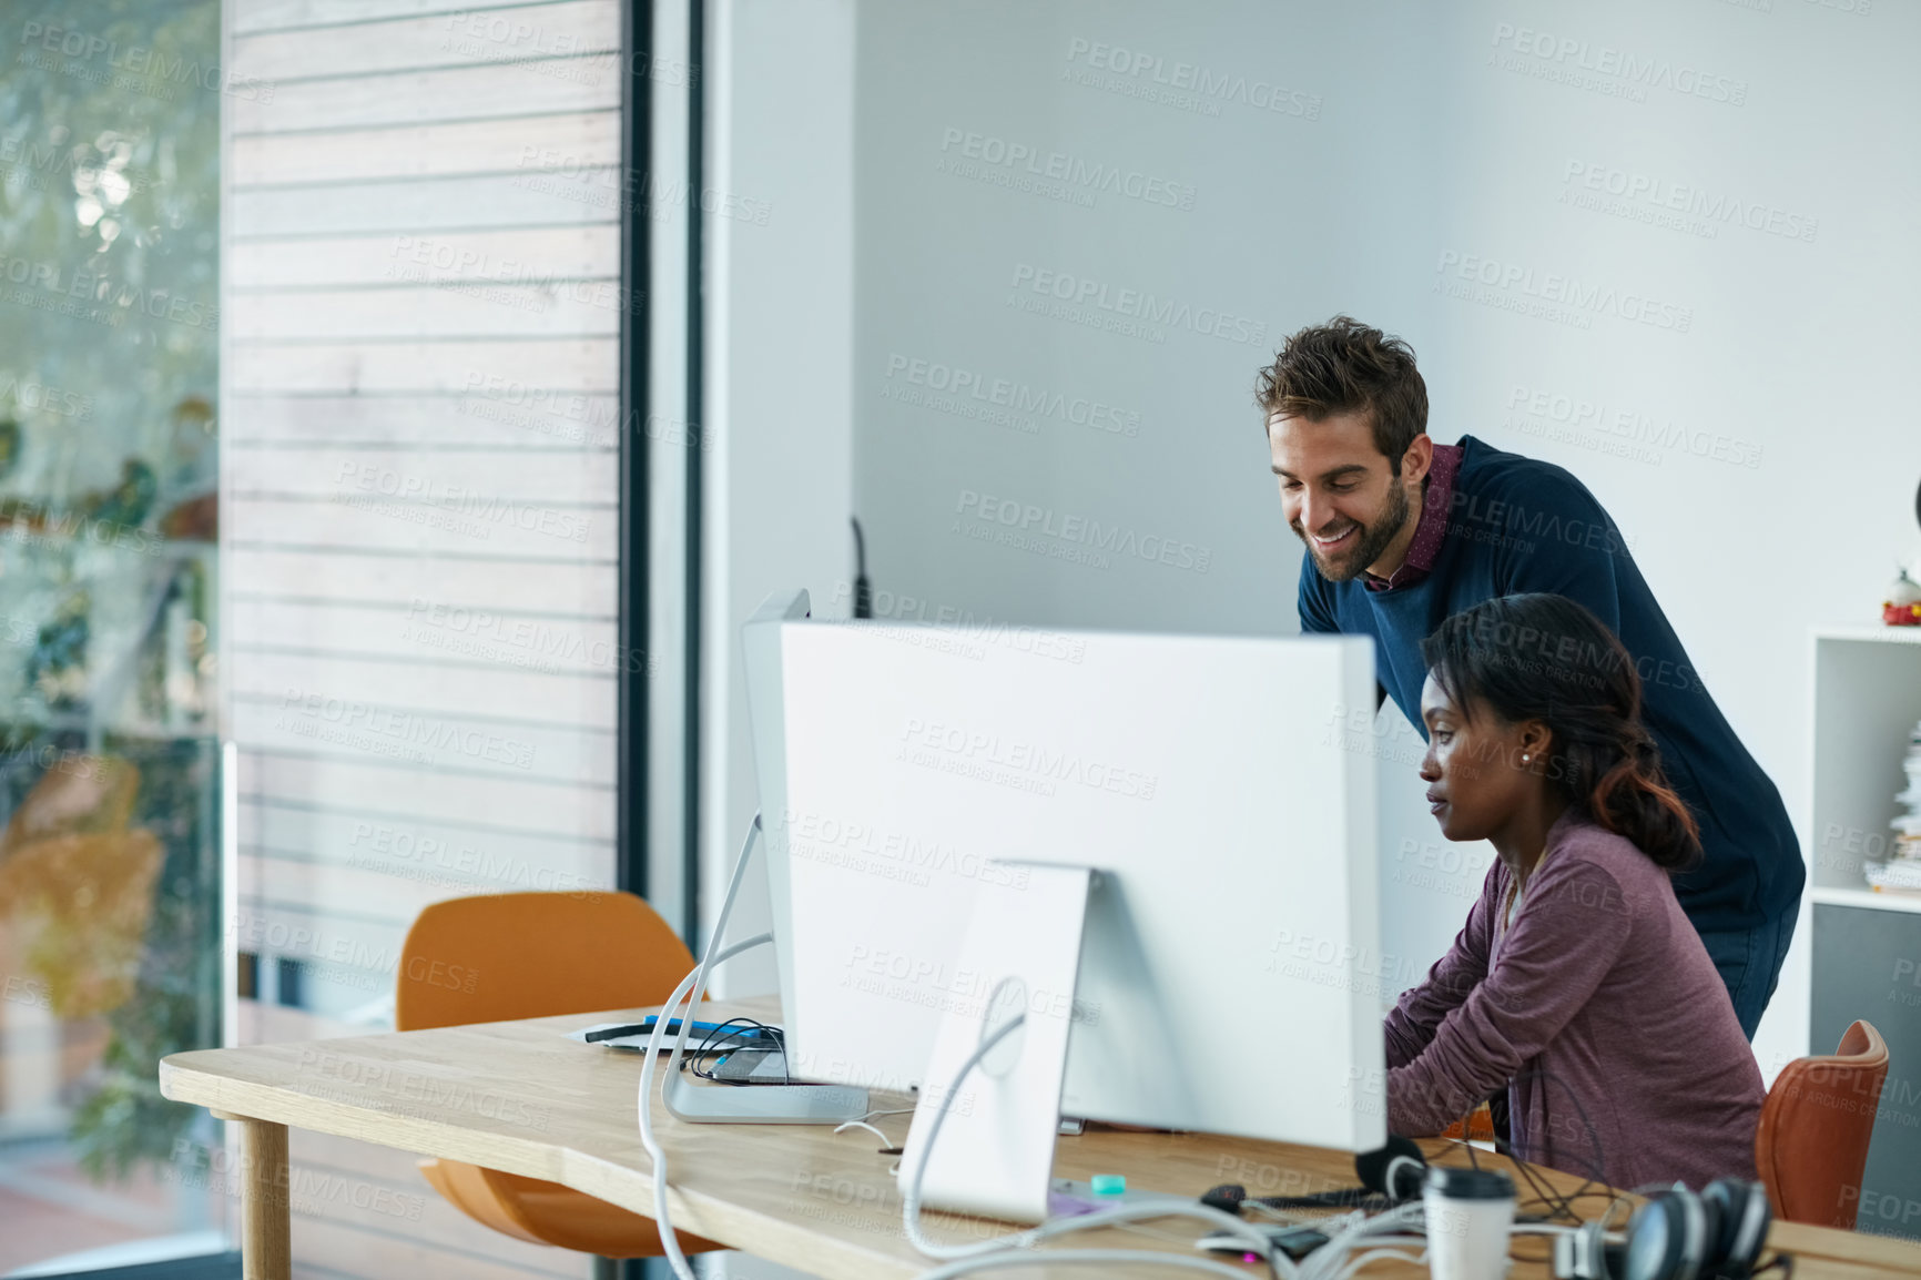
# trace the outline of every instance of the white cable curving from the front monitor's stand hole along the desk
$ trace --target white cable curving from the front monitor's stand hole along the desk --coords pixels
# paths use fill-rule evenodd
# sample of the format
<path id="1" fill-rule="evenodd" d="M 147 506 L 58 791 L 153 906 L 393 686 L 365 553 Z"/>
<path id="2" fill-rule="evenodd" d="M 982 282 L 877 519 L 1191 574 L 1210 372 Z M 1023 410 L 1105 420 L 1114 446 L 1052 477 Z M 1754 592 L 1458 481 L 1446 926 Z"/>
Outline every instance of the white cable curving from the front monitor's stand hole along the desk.
<path id="1" fill-rule="evenodd" d="M 924 1276 L 922 1280 L 932 1280 L 932 1276 L 949 1276 L 949 1274 L 959 1276 L 966 1274 L 968 1270 L 982 1270 L 985 1267 L 1012 1267 L 1016 1265 L 1016 1261 L 1022 1261 L 1026 1265 L 1041 1265 L 1041 1263 L 1051 1265 L 1051 1263 L 1076 1263 L 1076 1261 L 1164 1263 L 1170 1259 L 1179 1259 L 1170 1263 L 1176 1267 L 1187 1267 L 1199 1270 L 1229 1270 L 1237 1276 L 1243 1276 L 1245 1280 L 1247 1276 L 1245 1270 L 1231 1268 L 1226 1263 L 1212 1263 L 1208 1259 L 1187 1257 L 1183 1253 L 1147 1253 L 1131 1249 L 1060 1249 L 1060 1251 L 1051 1249 L 1039 1257 L 1026 1253 L 1026 1249 L 1032 1249 L 1041 1240 L 1066 1236 L 1068 1232 L 1085 1232 L 1097 1226 L 1112 1226 L 1116 1222 L 1135 1222 L 1141 1218 L 1166 1218 L 1166 1217 L 1201 1218 L 1203 1222 L 1214 1226 L 1214 1230 L 1239 1236 L 1241 1240 L 1249 1242 L 1249 1253 L 1268 1259 L 1268 1263 L 1274 1267 L 1276 1272 L 1283 1276 L 1283 1280 L 1301 1280 L 1302 1272 L 1295 1267 L 1293 1259 L 1276 1249 L 1274 1243 L 1268 1240 L 1266 1232 L 1254 1228 L 1252 1224 L 1245 1222 L 1243 1218 L 1237 1218 L 1231 1213 L 1212 1209 L 1199 1201 L 1185 1201 L 1174 1197 L 1168 1197 L 1166 1201 L 1149 1201 L 1139 1205 L 1116 1205 L 1112 1209 L 1097 1209 L 1093 1213 L 1076 1215 L 1072 1218 L 1049 1218 L 1039 1226 L 1032 1226 L 1024 1232 L 1014 1232 L 1010 1236 L 1001 1236 L 997 1240 L 980 1240 L 972 1243 L 939 1243 L 936 1240 L 928 1240 L 926 1232 L 920 1230 L 920 1184 L 922 1178 L 926 1176 L 928 1161 L 934 1155 L 934 1142 L 936 1138 L 939 1138 L 941 1124 L 947 1120 L 947 1107 L 953 1103 L 955 1095 L 959 1095 L 960 1086 L 966 1082 L 968 1074 L 993 1049 L 993 1046 L 1001 1044 L 1001 1040 L 1010 1036 L 1014 1028 L 1022 1026 L 1024 1022 L 1026 1015 L 1016 1015 L 1005 1026 L 995 1028 L 995 1032 L 985 1036 L 980 1047 L 976 1047 L 974 1053 L 968 1055 L 968 1059 L 960 1065 L 960 1071 L 955 1072 L 953 1086 L 949 1086 L 943 1092 L 941 1103 L 932 1111 L 932 1117 L 928 1119 L 928 1140 L 920 1144 L 920 1159 L 901 1180 L 901 1228 L 907 1234 L 907 1240 L 928 1257 L 953 1259 L 957 1263 L 959 1261 L 976 1263 L 976 1267 L 962 1267 L 960 1270 L 936 1268 L 928 1272 L 928 1276 Z M 1022 1253 L 1018 1255 L 1009 1253 L 1010 1249 L 1020 1249 Z"/>

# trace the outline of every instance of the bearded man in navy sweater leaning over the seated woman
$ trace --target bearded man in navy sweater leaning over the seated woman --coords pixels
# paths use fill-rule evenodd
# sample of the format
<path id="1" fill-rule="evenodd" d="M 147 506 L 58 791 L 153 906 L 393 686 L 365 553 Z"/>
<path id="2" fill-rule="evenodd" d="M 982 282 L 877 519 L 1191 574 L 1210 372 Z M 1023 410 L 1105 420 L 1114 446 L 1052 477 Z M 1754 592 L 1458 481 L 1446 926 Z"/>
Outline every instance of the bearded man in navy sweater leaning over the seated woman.
<path id="1" fill-rule="evenodd" d="M 1806 880 L 1781 792 L 1740 746 L 1587 486 L 1473 436 L 1427 438 L 1406 342 L 1337 315 L 1287 338 L 1256 386 L 1287 523 L 1306 544 L 1301 630 L 1374 636 L 1381 692 L 1425 736 L 1422 640 L 1495 596 L 1554 592 L 1635 659 L 1662 767 L 1700 825 L 1675 896 L 1754 1038 Z M 1539 642 L 1554 661 L 1556 638 Z"/>

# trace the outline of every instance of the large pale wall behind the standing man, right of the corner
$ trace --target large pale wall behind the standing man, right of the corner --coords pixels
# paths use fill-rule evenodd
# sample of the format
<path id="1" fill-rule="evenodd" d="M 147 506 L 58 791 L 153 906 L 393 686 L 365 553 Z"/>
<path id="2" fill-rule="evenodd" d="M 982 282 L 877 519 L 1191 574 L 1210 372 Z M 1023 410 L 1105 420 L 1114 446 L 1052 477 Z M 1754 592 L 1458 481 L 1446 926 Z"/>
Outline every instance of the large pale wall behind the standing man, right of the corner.
<path id="1" fill-rule="evenodd" d="M 861 4 L 853 494 L 882 611 L 1293 630 L 1301 548 L 1251 386 L 1285 332 L 1350 311 L 1416 346 L 1437 440 L 1471 432 L 1546 457 L 1600 496 L 1806 826 L 1806 628 L 1873 619 L 1896 555 L 1917 550 L 1921 432 L 1902 406 L 1921 338 L 1921 250 L 1904 221 L 1921 196 L 1921 10 L 1860 8 Z M 1548 33 L 1539 48 L 1556 56 L 1516 52 L 1521 29 Z M 1093 46 L 1141 69 L 1089 67 Z M 1666 79 L 1612 73 L 1623 56 Z M 1579 71 L 1583 58 L 1610 73 Z M 1197 75 L 1181 63 L 1245 88 L 1145 96 L 1156 69 Z M 1281 110 L 1251 102 L 1276 86 Z M 966 135 L 982 135 L 982 160 Z M 1024 177 L 985 161 L 1001 146 L 1139 173 L 1191 208 L 1124 192 L 1089 208 L 1085 188 L 976 177 Z M 1579 202 L 1614 181 L 1639 192 L 1635 175 L 1698 198 L 1690 225 L 1667 225 L 1644 194 Z M 1495 284 L 1460 279 L 1470 258 L 1500 263 Z M 1614 308 L 1518 311 L 1535 300 L 1500 284 L 1508 267 L 1537 290 L 1577 277 Z M 1039 271 L 1110 304 L 1145 290 L 1235 321 L 1226 336 L 1164 323 L 1143 338 L 1033 313 L 1022 304 L 1047 304 L 1028 288 Z M 1654 298 L 1662 323 L 1623 317 L 1629 296 Z M 980 388 L 1099 400 L 1135 434 L 928 406 L 916 359 Z M 1544 413 L 1529 411 L 1537 390 Z M 1558 396 L 1598 409 L 1560 423 Z M 1089 563 L 1085 540 L 1045 532 L 982 540 L 999 527 L 980 496 L 1055 529 L 1078 517 L 1076 534 L 1099 521 L 1155 552 L 1170 540 L 1176 563 Z M 1393 707 L 1381 732 L 1385 924 L 1414 980 L 1464 917 L 1485 846 L 1452 861 L 1420 805 L 1420 738 Z M 1804 944 L 1806 924 L 1756 1042 L 1769 1076 L 1806 1051 Z"/>

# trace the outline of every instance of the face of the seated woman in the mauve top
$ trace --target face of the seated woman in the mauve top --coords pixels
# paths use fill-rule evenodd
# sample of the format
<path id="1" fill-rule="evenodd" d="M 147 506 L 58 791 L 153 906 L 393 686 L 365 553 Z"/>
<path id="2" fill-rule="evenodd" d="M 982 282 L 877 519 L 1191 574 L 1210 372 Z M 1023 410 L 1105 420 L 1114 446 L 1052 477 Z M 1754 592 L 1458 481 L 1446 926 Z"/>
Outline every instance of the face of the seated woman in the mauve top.
<path id="1" fill-rule="evenodd" d="M 1541 792 L 1544 726 L 1506 725 L 1485 702 L 1475 703 L 1468 719 L 1433 675 L 1422 686 L 1422 721 L 1427 725 L 1427 755 L 1422 757 L 1427 807 L 1448 840 L 1495 836 L 1523 813 L 1529 796 Z"/>

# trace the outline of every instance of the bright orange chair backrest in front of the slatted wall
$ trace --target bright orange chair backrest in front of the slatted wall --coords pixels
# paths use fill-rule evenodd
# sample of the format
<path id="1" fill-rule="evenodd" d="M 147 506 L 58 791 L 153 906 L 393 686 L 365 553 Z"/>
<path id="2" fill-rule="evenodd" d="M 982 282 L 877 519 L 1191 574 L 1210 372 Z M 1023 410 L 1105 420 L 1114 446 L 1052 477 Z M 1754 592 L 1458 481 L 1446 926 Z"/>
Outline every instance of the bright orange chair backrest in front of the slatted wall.
<path id="1" fill-rule="evenodd" d="M 398 1030 L 661 1005 L 693 969 L 634 894 L 484 894 L 421 911 L 394 978 Z"/>

